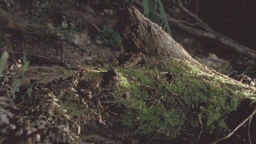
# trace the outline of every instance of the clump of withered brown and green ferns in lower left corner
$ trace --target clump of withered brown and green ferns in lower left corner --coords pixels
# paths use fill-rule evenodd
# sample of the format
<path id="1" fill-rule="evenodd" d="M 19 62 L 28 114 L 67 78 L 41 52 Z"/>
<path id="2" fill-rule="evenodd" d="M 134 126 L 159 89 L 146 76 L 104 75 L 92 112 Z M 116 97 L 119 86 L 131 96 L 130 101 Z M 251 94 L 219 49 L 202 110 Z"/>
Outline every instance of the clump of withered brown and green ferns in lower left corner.
<path id="1" fill-rule="evenodd" d="M 8 53 L 1 57 L 0 143 L 78 143 L 79 124 L 61 108 L 51 90 L 33 85 L 21 93 L 28 65 L 17 61 L 8 66 Z"/>

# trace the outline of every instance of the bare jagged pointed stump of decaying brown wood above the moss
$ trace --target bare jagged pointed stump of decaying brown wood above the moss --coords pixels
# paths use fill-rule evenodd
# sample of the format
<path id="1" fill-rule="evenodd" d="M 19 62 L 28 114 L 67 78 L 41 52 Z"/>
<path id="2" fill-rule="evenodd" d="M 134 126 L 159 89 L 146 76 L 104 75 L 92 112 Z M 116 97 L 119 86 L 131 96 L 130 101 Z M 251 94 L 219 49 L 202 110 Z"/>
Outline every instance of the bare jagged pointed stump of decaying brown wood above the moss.
<path id="1" fill-rule="evenodd" d="M 122 17 L 124 50 L 120 59 L 124 66 L 131 65 L 127 63 L 132 63 L 132 65 L 139 63 L 138 59 L 141 59 L 142 55 L 173 57 L 198 63 L 161 27 L 145 18 L 136 8 L 128 8 Z"/>

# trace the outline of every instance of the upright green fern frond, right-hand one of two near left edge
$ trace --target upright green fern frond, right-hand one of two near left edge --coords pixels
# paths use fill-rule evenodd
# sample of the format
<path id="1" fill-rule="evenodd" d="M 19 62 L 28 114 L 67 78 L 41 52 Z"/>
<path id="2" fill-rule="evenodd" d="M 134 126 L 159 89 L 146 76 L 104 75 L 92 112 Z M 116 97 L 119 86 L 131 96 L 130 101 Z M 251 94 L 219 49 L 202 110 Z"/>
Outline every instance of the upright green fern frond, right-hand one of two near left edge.
<path id="1" fill-rule="evenodd" d="M 20 72 L 18 72 L 18 74 L 16 74 L 16 76 L 14 76 L 14 78 L 12 79 L 12 88 L 14 89 L 14 92 L 18 92 L 20 91 L 20 85 L 21 85 L 21 78 L 22 76 L 25 74 L 26 70 L 27 70 L 27 66 L 29 66 L 29 61 L 27 61 L 20 69 Z"/>

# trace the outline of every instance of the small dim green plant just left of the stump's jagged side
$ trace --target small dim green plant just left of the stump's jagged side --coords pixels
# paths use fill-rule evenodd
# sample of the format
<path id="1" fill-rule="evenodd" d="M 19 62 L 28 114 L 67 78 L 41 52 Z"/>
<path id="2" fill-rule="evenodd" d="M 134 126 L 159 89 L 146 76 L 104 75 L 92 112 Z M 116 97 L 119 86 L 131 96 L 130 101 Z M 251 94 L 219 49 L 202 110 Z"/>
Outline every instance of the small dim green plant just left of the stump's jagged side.
<path id="1" fill-rule="evenodd" d="M 104 25 L 100 34 L 111 46 L 115 46 L 117 48 L 122 46 L 122 38 L 120 37 L 119 33 L 112 27 L 107 27 Z"/>

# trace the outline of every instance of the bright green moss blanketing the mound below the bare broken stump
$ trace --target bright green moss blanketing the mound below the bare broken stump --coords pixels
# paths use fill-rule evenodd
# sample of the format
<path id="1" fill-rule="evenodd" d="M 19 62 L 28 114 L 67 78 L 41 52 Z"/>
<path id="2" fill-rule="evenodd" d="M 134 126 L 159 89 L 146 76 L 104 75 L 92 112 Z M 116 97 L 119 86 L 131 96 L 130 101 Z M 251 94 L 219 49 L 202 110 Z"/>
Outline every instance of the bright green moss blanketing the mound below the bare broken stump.
<path id="1" fill-rule="evenodd" d="M 220 74 L 177 59 L 146 59 L 140 68 L 117 68 L 121 83 L 101 83 L 94 95 L 123 118 L 134 134 L 175 139 L 203 128 L 210 134 L 229 132 L 227 117 L 255 93 Z M 86 78 L 104 81 L 104 71 Z M 89 81 L 87 81 L 89 83 Z M 100 93 L 100 94 L 96 94 Z M 190 129 L 190 132 L 187 130 Z"/>

